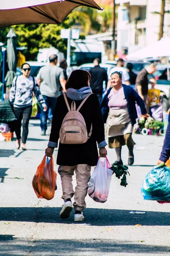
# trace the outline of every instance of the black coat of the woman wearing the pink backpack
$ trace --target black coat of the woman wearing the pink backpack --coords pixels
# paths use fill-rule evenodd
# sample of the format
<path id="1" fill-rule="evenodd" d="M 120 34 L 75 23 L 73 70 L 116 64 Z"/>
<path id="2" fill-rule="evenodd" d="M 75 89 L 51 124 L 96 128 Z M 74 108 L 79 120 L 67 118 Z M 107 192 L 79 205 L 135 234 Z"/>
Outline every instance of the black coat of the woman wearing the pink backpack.
<path id="1" fill-rule="evenodd" d="M 68 98 L 68 104 L 71 107 L 72 100 Z M 76 108 L 81 104 L 82 100 L 75 100 Z M 99 100 L 95 94 L 91 94 L 80 108 L 79 112 L 85 119 L 88 133 L 93 125 L 90 139 L 83 144 L 61 144 L 59 143 L 57 164 L 62 166 L 75 166 L 77 164 L 88 164 L 96 166 L 98 159 L 97 143 L 105 140 L 104 123 L 102 119 L 102 111 Z M 59 140 L 59 130 L 68 108 L 65 104 L 64 96 L 57 98 L 54 110 L 53 121 L 51 125 L 51 134 L 49 141 L 57 143 Z"/>

